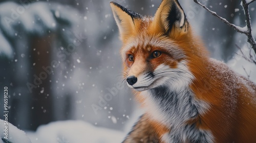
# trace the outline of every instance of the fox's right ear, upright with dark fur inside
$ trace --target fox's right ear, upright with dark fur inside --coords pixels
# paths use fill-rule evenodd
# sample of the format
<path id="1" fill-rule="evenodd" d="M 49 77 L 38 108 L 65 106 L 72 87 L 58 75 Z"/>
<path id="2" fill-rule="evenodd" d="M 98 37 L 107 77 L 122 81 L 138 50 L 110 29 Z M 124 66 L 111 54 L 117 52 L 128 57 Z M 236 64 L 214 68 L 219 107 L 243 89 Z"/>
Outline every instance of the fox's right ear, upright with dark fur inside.
<path id="1" fill-rule="evenodd" d="M 177 0 L 163 0 L 153 21 L 158 32 L 164 32 L 172 38 L 187 33 L 188 21 Z"/>

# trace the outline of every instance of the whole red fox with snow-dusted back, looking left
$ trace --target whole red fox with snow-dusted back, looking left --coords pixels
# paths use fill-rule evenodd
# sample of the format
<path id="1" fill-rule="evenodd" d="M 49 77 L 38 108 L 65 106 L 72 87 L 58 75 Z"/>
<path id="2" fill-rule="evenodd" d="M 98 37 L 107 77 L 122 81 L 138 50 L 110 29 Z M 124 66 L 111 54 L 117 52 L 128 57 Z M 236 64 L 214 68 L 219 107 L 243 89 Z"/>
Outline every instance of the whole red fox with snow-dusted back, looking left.
<path id="1" fill-rule="evenodd" d="M 209 58 L 177 0 L 154 17 L 110 5 L 124 79 L 146 111 L 123 142 L 256 142 L 256 85 Z"/>

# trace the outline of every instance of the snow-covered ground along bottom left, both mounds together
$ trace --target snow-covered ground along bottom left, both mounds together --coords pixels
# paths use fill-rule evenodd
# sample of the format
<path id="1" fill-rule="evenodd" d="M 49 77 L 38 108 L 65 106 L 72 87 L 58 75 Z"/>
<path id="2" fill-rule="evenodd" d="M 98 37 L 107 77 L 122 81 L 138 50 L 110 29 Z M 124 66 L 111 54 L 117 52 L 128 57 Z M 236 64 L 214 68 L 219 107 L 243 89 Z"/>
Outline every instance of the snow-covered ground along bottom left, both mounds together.
<path id="1" fill-rule="evenodd" d="M 4 121 L 0 120 L 1 138 L 6 136 L 4 128 Z M 83 121 L 58 121 L 27 133 L 8 123 L 6 140 L 13 143 L 112 143 L 121 142 L 124 136 L 123 132 L 95 127 Z M 0 142 L 4 143 L 3 139 Z"/>

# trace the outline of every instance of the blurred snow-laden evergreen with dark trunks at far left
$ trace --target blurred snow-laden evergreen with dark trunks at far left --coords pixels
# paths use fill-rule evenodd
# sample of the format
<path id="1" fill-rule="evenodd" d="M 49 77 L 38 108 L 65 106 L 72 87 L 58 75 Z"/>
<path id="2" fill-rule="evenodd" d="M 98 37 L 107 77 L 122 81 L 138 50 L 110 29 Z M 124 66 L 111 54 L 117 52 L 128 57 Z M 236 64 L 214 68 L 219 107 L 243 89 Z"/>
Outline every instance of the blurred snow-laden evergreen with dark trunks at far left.
<path id="1" fill-rule="evenodd" d="M 14 125 L 36 129 L 53 120 L 50 79 L 35 85 L 35 76 L 40 77 L 43 66 L 51 65 L 53 41 L 70 41 L 72 33 L 67 31 L 77 22 L 76 14 L 72 8 L 55 3 L 0 3 L 0 64 L 4 65 L 0 84 L 12 89 L 9 108 Z"/>

